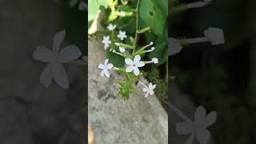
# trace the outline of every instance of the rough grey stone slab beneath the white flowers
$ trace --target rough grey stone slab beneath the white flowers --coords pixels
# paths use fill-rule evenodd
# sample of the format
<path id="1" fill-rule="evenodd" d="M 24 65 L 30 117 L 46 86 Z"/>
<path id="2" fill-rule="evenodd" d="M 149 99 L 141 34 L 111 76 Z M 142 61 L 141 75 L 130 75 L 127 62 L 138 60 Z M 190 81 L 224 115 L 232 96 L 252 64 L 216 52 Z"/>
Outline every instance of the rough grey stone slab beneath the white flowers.
<path id="1" fill-rule="evenodd" d="M 97 42 L 88 42 L 89 98 L 88 121 L 98 144 L 167 144 L 168 117 L 155 96 L 144 97 L 138 84 L 138 94 L 128 101 L 118 97 L 114 80 L 122 77 L 111 71 L 102 78 L 98 64 L 106 51 Z"/>

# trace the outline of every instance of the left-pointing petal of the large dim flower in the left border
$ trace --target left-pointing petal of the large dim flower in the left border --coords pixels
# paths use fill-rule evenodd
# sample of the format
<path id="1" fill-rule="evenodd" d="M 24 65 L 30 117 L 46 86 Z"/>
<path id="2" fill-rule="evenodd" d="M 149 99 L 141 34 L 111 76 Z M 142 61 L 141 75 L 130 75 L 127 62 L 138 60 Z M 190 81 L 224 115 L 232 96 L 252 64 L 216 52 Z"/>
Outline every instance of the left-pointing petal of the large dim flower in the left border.
<path id="1" fill-rule="evenodd" d="M 34 50 L 33 58 L 42 62 L 52 62 L 53 51 L 46 48 L 46 46 L 37 46 L 36 50 Z"/>

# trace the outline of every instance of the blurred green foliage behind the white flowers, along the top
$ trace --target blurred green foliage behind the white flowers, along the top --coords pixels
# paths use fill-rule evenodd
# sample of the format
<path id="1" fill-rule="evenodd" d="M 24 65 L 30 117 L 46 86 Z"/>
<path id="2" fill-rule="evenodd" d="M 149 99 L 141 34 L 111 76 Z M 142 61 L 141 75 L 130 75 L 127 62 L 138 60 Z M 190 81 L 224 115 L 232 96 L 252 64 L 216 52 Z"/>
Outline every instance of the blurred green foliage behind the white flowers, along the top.
<path id="1" fill-rule="evenodd" d="M 106 5 L 106 2 L 108 5 Z M 167 59 L 167 31 L 166 29 L 166 16 L 168 11 L 167 0 L 141 0 L 139 6 L 139 29 L 150 26 L 150 34 L 142 34 L 139 38 L 139 44 L 146 44 L 154 42 L 155 51 L 147 54 L 149 58 L 158 58 L 159 63 L 165 63 Z M 107 0 L 107 1 L 93 1 L 89 0 L 89 24 L 94 19 L 96 12 L 101 10 L 106 14 L 103 25 L 107 26 L 109 23 L 118 25 L 119 30 L 125 30 L 126 34 L 135 35 L 135 13 L 136 13 L 137 0 Z M 126 17 L 118 17 L 120 11 L 126 12 Z M 104 34 L 104 32 L 102 32 Z M 132 44 L 130 39 L 126 39 L 126 44 Z M 110 62 L 124 66 L 124 61 L 116 57 L 116 54 L 107 53 Z M 122 63 L 121 63 L 122 62 Z"/>

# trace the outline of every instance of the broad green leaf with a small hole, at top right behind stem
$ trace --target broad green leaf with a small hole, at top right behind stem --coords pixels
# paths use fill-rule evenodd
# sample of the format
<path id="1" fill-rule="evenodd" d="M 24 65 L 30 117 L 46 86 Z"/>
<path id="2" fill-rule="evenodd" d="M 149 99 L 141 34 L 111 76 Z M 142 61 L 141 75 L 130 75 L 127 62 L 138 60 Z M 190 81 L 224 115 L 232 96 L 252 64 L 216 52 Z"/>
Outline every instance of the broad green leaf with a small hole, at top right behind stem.
<path id="1" fill-rule="evenodd" d="M 141 0 L 139 6 L 139 15 L 146 25 L 150 26 L 150 30 L 156 35 L 162 35 L 165 28 L 165 14 L 150 0 Z"/>

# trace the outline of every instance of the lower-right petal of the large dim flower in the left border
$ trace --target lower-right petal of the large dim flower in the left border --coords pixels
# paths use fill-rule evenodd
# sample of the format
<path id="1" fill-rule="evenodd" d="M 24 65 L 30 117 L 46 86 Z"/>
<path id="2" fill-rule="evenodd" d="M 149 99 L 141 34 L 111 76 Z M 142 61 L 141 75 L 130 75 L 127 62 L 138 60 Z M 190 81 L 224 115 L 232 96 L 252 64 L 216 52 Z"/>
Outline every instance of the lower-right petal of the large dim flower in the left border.
<path id="1" fill-rule="evenodd" d="M 63 89 L 69 88 L 69 80 L 64 66 L 61 63 L 54 63 L 53 71 L 54 80 L 58 86 L 61 86 Z"/>

